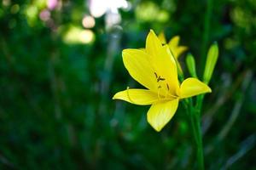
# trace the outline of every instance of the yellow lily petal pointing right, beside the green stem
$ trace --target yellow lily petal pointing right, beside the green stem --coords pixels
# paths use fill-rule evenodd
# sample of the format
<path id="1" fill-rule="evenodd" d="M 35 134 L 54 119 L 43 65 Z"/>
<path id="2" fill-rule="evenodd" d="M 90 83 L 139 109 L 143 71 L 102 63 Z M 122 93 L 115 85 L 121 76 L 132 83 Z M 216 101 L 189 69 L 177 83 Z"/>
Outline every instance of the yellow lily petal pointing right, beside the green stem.
<path id="1" fill-rule="evenodd" d="M 189 98 L 198 94 L 211 93 L 212 89 L 196 78 L 187 78 L 180 86 L 180 98 Z"/>

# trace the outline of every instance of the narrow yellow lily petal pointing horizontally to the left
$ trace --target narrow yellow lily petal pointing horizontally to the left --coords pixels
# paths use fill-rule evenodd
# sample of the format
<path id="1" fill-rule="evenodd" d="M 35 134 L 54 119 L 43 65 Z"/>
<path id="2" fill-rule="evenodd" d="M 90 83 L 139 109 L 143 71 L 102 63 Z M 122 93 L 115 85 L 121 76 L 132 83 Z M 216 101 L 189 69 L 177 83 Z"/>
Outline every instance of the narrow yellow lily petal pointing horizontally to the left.
<path id="1" fill-rule="evenodd" d="M 151 105 L 158 100 L 158 96 L 146 89 L 127 89 L 114 94 L 113 99 L 122 99 L 135 105 Z"/>

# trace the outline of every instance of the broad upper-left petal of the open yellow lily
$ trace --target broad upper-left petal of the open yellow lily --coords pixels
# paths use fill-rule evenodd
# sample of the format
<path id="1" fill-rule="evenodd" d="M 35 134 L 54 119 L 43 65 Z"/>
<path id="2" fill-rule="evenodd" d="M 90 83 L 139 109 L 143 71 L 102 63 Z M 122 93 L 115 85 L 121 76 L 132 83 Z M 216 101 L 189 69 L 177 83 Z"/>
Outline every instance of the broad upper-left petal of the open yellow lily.
<path id="1" fill-rule="evenodd" d="M 157 89 L 157 83 L 155 81 L 154 69 L 148 58 L 148 54 L 143 50 L 123 50 L 125 68 L 131 77 L 141 83 L 145 88 L 155 91 Z"/>

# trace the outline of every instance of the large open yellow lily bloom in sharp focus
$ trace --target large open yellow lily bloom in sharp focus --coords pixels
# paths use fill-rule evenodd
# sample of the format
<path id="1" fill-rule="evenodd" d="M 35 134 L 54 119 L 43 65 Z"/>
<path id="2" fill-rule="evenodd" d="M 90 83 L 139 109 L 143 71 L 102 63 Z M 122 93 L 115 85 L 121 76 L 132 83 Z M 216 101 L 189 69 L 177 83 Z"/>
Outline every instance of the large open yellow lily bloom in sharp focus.
<path id="1" fill-rule="evenodd" d="M 131 77 L 148 89 L 126 89 L 113 96 L 135 105 L 151 105 L 148 123 L 158 132 L 172 119 L 178 101 L 209 93 L 205 83 L 188 78 L 179 84 L 177 65 L 167 45 L 162 46 L 154 31 L 148 33 L 146 48 L 123 50 L 125 68 Z"/>

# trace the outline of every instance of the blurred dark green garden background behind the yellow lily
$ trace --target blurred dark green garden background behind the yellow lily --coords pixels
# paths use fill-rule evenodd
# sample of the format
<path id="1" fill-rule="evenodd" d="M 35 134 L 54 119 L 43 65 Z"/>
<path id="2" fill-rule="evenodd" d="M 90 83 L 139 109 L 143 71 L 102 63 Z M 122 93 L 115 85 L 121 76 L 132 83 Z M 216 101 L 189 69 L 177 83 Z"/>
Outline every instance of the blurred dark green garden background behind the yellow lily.
<path id="1" fill-rule="evenodd" d="M 179 35 L 202 75 L 218 64 L 202 111 L 207 169 L 256 169 L 255 0 L 2 0 L 0 169 L 193 169 L 179 105 L 156 133 L 149 106 L 112 100 L 131 79 L 124 48 L 149 29 Z M 184 65 L 185 55 L 180 57 Z"/>

